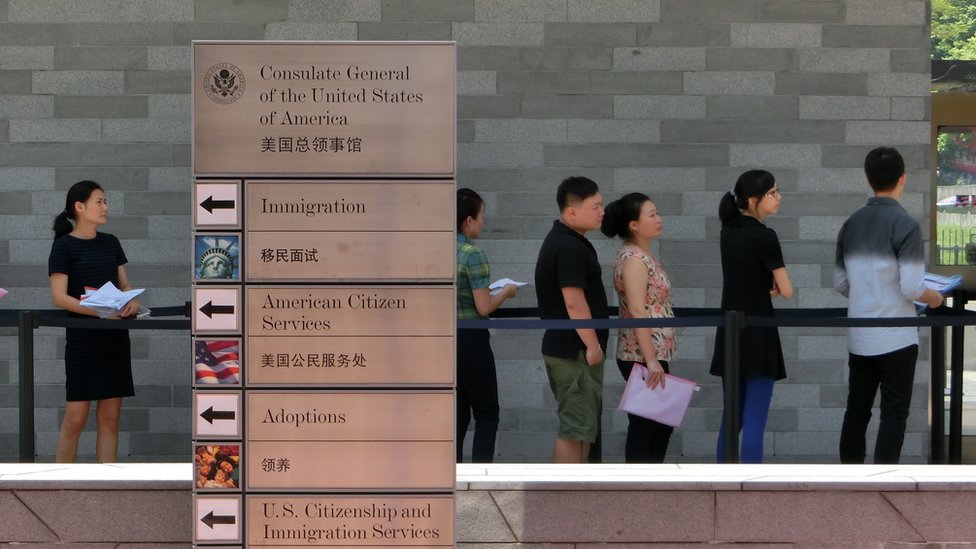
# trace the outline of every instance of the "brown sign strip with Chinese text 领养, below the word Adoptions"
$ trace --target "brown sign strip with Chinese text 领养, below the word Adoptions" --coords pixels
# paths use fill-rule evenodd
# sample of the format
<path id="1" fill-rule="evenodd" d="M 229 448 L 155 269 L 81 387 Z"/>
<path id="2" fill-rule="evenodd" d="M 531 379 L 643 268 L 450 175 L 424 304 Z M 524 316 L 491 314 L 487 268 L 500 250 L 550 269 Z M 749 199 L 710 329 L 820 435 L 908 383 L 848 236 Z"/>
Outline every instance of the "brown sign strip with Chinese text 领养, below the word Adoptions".
<path id="1" fill-rule="evenodd" d="M 245 484 L 275 491 L 447 491 L 454 489 L 454 458 L 453 440 L 252 440 Z"/>

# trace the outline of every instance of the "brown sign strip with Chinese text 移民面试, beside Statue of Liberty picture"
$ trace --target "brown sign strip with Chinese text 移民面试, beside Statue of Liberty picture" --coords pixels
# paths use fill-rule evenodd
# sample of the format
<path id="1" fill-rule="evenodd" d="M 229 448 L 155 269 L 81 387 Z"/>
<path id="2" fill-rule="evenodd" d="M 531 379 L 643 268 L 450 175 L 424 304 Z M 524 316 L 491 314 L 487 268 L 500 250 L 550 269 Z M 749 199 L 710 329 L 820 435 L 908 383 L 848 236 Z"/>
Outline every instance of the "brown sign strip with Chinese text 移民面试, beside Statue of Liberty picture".
<path id="1" fill-rule="evenodd" d="M 453 232 L 248 233 L 246 282 L 454 280 Z"/>

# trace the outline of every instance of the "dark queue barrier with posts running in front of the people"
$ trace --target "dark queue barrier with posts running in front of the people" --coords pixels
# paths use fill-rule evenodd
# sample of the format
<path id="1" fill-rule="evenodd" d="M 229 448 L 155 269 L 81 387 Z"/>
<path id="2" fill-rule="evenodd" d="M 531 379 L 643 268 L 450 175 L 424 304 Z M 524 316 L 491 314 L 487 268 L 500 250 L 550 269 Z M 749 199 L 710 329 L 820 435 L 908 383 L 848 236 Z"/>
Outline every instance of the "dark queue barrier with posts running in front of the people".
<path id="1" fill-rule="evenodd" d="M 502 330 L 576 329 L 625 327 L 717 327 L 724 330 L 726 383 L 724 414 L 726 433 L 739 432 L 739 345 L 740 332 L 747 327 L 883 327 L 919 326 L 931 329 L 930 364 L 930 463 L 962 462 L 962 374 L 965 326 L 976 326 L 976 313 L 965 310 L 968 294 L 953 293 L 953 307 L 931 311 L 923 317 L 906 318 L 848 318 L 847 310 L 835 309 L 777 309 L 771 317 L 747 316 L 741 311 L 721 311 L 704 308 L 676 308 L 674 318 L 655 319 L 595 319 L 595 320 L 538 320 L 534 308 L 511 308 L 496 311 L 492 320 L 459 320 L 457 327 L 491 328 Z M 18 361 L 20 373 L 20 460 L 31 463 L 35 459 L 34 431 L 34 330 L 39 327 L 73 327 L 106 330 L 189 330 L 190 304 L 153 309 L 153 316 L 140 320 L 101 322 L 94 318 L 69 316 L 58 310 L 0 310 L 0 327 L 17 327 Z M 612 311 L 615 314 L 616 311 Z M 180 316 L 180 319 L 161 317 Z M 945 329 L 951 328 L 950 409 L 948 455 L 945 448 Z M 738 462 L 738 437 L 726 436 L 723 453 L 726 463 Z"/>

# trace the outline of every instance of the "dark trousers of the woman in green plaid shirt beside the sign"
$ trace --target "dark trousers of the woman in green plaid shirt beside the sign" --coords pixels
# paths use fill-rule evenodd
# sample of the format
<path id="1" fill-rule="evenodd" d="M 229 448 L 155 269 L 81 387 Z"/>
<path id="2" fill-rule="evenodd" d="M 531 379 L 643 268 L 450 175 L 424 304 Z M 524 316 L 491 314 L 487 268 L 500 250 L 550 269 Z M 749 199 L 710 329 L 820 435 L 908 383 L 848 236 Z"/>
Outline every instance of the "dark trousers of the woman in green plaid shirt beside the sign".
<path id="1" fill-rule="evenodd" d="M 474 417 L 471 461 L 495 459 L 498 432 L 498 377 L 488 330 L 457 332 L 457 461 L 462 461 L 464 435 Z"/>

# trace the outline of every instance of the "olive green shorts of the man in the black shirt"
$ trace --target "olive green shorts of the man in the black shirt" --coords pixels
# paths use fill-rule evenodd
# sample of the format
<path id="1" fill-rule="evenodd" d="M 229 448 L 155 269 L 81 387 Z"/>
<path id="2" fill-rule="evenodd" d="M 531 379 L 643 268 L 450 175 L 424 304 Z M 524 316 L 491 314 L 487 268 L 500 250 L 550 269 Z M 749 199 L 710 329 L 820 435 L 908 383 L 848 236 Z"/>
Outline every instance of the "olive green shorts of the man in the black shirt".
<path id="1" fill-rule="evenodd" d="M 587 365 L 583 351 L 575 359 L 542 358 L 549 388 L 556 397 L 559 438 L 596 442 L 603 403 L 603 362 Z"/>

